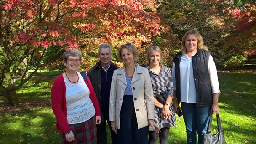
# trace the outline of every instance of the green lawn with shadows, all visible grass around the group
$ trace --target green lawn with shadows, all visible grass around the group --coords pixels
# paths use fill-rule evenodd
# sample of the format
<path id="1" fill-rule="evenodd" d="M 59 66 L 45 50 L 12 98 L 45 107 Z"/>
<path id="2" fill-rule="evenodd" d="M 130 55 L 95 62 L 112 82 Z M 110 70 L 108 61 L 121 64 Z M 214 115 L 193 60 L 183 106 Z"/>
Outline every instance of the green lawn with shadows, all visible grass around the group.
<path id="1" fill-rule="evenodd" d="M 256 144 L 256 72 L 219 72 L 222 94 L 219 115 L 228 144 Z M 17 91 L 20 106 L 10 107 L 0 97 L 0 144 L 60 144 L 50 103 L 50 77 L 37 87 Z M 183 117 L 169 132 L 169 144 L 186 144 Z M 212 132 L 216 133 L 213 117 Z M 215 130 L 215 131 L 214 131 Z M 110 132 L 108 134 L 108 144 Z"/>

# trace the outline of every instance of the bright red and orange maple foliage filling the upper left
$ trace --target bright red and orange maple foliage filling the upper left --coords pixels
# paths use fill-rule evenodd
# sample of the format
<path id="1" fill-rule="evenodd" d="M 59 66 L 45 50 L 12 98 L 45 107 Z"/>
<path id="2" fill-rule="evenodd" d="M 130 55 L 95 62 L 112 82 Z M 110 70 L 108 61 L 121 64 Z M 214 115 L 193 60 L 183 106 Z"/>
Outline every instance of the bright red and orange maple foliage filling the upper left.
<path id="1" fill-rule="evenodd" d="M 154 1 L 1 0 L 0 95 L 17 104 L 15 91 L 38 69 L 59 67 L 67 48 L 79 48 L 90 62 L 102 42 L 114 47 L 151 42 L 159 34 L 160 18 L 144 9 L 155 10 Z M 21 65 L 21 82 L 14 82 Z"/>

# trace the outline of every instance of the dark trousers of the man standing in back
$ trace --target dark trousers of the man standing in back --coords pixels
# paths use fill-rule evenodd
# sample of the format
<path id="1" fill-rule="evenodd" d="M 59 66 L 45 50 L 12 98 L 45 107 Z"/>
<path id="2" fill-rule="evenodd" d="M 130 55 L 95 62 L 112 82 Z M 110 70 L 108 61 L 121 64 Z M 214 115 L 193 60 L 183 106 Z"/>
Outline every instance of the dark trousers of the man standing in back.
<path id="1" fill-rule="evenodd" d="M 101 113 L 101 124 L 97 124 L 97 144 L 107 144 L 106 121 L 110 129 L 112 144 L 117 144 L 117 134 L 111 129 L 111 122 L 107 113 Z"/>

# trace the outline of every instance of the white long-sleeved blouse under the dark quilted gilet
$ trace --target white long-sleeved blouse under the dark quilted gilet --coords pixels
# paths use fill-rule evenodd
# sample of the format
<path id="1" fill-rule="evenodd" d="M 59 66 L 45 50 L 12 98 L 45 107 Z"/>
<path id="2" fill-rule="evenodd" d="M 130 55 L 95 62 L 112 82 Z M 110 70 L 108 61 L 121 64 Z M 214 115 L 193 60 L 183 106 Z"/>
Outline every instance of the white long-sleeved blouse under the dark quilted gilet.
<path id="1" fill-rule="evenodd" d="M 196 54 L 195 52 L 193 56 Z M 212 93 L 220 93 L 219 81 L 217 75 L 216 65 L 213 61 L 213 57 L 210 55 L 208 62 L 208 73 L 211 80 Z M 175 63 L 172 66 L 172 80 L 173 89 L 176 90 L 175 80 Z M 182 54 L 180 62 L 180 80 L 181 80 L 181 102 L 185 103 L 197 103 L 196 87 L 194 82 L 192 57 L 187 57 L 186 54 Z"/>

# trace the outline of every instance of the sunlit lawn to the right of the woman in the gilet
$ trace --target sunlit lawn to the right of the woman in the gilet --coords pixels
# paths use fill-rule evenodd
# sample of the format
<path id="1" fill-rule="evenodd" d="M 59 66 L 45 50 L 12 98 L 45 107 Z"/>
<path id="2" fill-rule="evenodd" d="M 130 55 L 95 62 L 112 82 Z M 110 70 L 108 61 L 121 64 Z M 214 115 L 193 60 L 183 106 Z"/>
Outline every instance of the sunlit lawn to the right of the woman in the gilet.
<path id="1" fill-rule="evenodd" d="M 255 144 L 256 72 L 220 72 L 219 84 L 219 109 L 227 142 Z"/>

